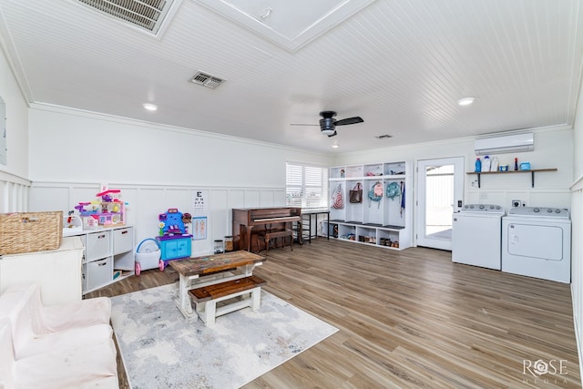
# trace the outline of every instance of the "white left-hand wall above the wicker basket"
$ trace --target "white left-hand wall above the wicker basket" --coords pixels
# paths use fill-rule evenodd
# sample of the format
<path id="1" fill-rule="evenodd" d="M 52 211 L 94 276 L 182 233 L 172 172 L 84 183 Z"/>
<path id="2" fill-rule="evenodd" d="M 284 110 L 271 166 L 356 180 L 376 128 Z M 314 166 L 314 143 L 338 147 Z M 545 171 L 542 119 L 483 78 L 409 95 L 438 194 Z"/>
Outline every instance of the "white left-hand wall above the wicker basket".
<path id="1" fill-rule="evenodd" d="M 0 37 L 1 39 L 1 37 Z M 4 44 L 4 42 L 1 42 Z M 0 164 L 0 213 L 28 207 L 28 107 L 0 49 L 0 96 L 6 105 L 6 165 Z M 0 134 L 2 136 L 2 134 Z"/>

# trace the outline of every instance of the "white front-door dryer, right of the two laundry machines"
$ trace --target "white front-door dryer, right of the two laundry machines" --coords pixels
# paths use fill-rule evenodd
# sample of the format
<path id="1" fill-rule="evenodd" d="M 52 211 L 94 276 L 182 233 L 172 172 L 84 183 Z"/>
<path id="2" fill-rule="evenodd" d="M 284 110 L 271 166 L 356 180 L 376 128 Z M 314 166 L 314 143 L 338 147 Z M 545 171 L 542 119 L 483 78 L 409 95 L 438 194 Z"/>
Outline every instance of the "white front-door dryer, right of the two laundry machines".
<path id="1" fill-rule="evenodd" d="M 502 271 L 571 282 L 571 220 L 567 210 L 517 207 L 502 220 Z"/>

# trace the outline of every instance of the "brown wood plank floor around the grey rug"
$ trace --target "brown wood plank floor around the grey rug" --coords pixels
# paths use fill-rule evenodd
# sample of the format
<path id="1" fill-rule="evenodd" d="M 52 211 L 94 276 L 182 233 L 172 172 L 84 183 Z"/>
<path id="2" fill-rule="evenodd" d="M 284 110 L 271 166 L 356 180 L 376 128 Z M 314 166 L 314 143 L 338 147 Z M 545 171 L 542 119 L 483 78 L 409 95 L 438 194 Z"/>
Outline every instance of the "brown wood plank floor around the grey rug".
<path id="1" fill-rule="evenodd" d="M 567 284 L 452 263 L 449 251 L 323 239 L 270 251 L 254 273 L 340 331 L 245 389 L 581 387 Z M 176 281 L 171 268 L 143 271 L 86 297 Z M 536 361 L 563 360 L 567 374 L 524 374 L 525 360 L 534 375 Z"/>

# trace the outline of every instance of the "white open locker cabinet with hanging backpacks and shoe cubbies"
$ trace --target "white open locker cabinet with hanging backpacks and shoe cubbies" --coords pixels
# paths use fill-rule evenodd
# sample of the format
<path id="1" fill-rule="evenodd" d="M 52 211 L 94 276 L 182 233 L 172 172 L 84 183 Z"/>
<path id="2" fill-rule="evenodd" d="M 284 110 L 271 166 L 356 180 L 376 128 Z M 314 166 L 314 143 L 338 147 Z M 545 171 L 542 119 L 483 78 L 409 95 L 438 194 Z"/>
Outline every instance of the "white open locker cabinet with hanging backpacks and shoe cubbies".
<path id="1" fill-rule="evenodd" d="M 334 208 L 331 199 L 329 236 L 394 250 L 411 247 L 411 171 L 411 162 L 405 161 L 331 168 L 330 191 L 332 196 L 340 191 L 343 207 Z M 358 183 L 363 200 L 351 202 L 350 190 Z"/>

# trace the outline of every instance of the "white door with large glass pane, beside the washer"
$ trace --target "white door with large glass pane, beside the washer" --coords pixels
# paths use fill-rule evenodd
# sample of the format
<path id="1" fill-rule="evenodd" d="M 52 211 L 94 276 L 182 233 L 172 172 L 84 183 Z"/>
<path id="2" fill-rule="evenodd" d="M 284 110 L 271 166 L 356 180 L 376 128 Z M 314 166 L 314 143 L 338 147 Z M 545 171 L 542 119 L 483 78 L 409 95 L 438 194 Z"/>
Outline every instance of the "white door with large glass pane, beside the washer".
<path id="1" fill-rule="evenodd" d="M 417 245 L 452 250 L 452 216 L 464 200 L 464 157 L 417 161 Z"/>

